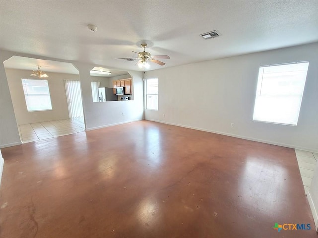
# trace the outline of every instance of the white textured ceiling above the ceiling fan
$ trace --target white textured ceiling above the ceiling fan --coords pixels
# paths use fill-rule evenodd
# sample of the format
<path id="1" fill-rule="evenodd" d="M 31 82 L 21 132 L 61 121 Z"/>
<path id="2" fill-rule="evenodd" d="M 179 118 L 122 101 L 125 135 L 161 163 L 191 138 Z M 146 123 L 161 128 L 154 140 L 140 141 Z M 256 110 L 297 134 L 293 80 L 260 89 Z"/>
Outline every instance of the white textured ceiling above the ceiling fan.
<path id="1" fill-rule="evenodd" d="M 1 1 L 1 49 L 140 70 L 146 42 L 165 66 L 318 40 L 318 1 Z M 97 32 L 87 25 L 94 24 Z M 199 35 L 218 30 L 221 36 Z"/>

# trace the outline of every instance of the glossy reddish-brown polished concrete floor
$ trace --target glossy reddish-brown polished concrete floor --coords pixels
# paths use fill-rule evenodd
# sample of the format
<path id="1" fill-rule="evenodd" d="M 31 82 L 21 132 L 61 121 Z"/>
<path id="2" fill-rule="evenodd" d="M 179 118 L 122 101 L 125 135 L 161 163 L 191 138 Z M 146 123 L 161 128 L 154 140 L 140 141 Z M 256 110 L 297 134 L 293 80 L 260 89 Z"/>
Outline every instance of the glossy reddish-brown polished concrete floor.
<path id="1" fill-rule="evenodd" d="M 290 148 L 139 121 L 2 155 L 1 238 L 318 237 Z"/>

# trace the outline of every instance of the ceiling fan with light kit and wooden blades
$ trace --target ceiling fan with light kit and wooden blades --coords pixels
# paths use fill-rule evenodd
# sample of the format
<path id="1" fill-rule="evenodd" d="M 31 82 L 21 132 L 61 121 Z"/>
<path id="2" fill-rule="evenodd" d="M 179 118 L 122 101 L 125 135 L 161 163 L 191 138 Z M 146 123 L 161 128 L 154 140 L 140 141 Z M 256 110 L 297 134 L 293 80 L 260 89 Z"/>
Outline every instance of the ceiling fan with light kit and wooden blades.
<path id="1" fill-rule="evenodd" d="M 144 51 L 141 51 L 141 52 L 135 52 L 135 51 L 132 51 L 134 53 L 137 53 L 138 54 L 138 57 L 126 57 L 126 58 L 116 58 L 115 60 L 127 60 L 127 61 L 134 61 L 134 60 L 139 60 L 137 62 L 137 65 L 140 67 L 140 68 L 149 68 L 149 64 L 148 64 L 148 61 L 150 62 L 153 62 L 153 63 L 157 63 L 161 66 L 165 65 L 164 62 L 161 62 L 159 60 L 156 60 L 154 58 L 162 58 L 162 59 L 170 59 L 169 56 L 167 55 L 157 55 L 157 56 L 152 56 L 150 55 L 149 52 L 146 52 L 145 51 L 145 48 L 147 47 L 147 44 L 143 43 L 141 44 L 141 47 L 144 48 Z"/>

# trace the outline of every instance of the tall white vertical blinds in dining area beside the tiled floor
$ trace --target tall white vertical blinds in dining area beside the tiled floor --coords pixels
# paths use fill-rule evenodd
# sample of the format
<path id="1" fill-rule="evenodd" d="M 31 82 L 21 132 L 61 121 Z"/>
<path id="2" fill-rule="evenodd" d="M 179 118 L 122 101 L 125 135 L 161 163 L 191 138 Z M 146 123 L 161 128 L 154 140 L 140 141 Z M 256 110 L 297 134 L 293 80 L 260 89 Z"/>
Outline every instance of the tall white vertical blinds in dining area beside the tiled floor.
<path id="1" fill-rule="evenodd" d="M 68 100 L 69 117 L 71 119 L 84 117 L 80 82 L 64 80 L 64 83 L 66 98 Z"/>

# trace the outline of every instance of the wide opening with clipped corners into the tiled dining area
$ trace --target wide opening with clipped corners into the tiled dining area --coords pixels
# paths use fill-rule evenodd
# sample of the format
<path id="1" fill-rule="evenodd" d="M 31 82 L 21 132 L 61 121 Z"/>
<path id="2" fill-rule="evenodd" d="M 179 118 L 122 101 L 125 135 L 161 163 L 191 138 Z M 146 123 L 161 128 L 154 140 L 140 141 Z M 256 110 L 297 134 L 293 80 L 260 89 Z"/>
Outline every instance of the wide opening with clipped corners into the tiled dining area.
<path id="1" fill-rule="evenodd" d="M 68 102 L 73 106 L 78 100 L 67 99 L 64 79 L 77 81 L 80 90 L 79 71 L 73 64 L 21 56 L 3 64 L 22 143 L 85 131 L 81 93 L 81 113 L 70 119 Z M 39 67 L 47 77 L 34 73 Z"/>

